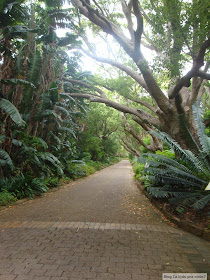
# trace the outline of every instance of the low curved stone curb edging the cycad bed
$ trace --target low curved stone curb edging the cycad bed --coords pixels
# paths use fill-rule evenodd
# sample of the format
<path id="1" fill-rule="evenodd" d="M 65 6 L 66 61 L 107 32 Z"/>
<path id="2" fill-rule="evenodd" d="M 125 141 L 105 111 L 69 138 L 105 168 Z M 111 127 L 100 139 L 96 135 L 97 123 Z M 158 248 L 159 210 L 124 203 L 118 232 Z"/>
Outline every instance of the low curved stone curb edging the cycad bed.
<path id="1" fill-rule="evenodd" d="M 151 198 L 146 191 L 142 189 L 142 185 L 140 181 L 136 181 L 138 189 L 150 200 L 150 202 L 159 210 L 161 213 L 172 223 L 177 225 L 178 227 L 192 233 L 193 235 L 202 237 L 203 239 L 210 241 L 210 230 L 206 228 L 197 227 L 185 220 L 178 218 L 177 216 L 168 212 L 164 206 L 160 205 L 157 201 Z"/>

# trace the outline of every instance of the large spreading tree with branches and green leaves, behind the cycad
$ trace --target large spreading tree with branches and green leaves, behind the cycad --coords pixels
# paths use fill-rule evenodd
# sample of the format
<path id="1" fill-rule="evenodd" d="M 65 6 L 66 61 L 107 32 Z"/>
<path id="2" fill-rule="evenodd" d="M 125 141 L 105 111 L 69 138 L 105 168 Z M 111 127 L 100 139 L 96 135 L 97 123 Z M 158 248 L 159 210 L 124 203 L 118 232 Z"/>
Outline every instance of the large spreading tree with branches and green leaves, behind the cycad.
<path id="1" fill-rule="evenodd" d="M 142 100 L 140 94 L 135 100 L 132 95 L 126 96 L 134 104 L 132 106 L 113 101 L 102 87 L 72 77 L 68 82 L 80 84 L 89 91 L 71 92 L 71 96 L 105 103 L 125 114 L 131 114 L 145 131 L 156 127 L 171 135 L 183 148 L 196 151 L 197 145 L 191 137 L 193 135 L 197 139 L 192 104 L 202 97 L 205 82 L 210 79 L 207 72 L 210 46 L 208 1 L 121 0 L 120 4 L 115 1 L 72 2 L 80 12 L 81 28 L 85 30 L 88 26 L 86 18 L 93 23 L 94 28 L 98 27 L 95 28 L 96 35 L 107 35 L 107 41 L 111 36 L 122 49 L 123 56 L 127 55 L 127 63 L 123 63 L 117 55 L 111 58 L 99 56 L 97 47 L 87 40 L 88 36 L 84 32 L 81 36 L 87 48 L 83 48 L 83 52 L 129 75 L 138 84 L 139 92 L 151 96 L 153 105 Z M 156 53 L 152 65 L 143 55 L 142 46 Z M 113 54 L 116 48 L 110 48 Z M 160 146 L 154 140 L 153 150 Z"/>

